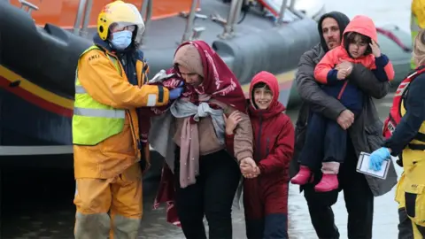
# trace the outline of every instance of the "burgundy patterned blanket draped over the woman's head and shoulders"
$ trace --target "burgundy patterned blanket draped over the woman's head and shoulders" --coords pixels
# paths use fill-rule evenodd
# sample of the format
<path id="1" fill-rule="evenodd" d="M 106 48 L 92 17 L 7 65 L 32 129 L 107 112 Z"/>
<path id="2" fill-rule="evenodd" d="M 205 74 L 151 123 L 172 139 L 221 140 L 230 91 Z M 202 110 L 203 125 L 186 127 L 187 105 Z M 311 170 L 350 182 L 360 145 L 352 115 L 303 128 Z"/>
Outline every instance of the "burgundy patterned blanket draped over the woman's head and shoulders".
<path id="1" fill-rule="evenodd" d="M 205 77 L 202 84 L 197 88 L 185 85 L 182 96 L 189 97 L 192 103 L 198 104 L 198 94 L 206 94 L 213 99 L 236 108 L 236 110 L 240 112 L 246 112 L 247 102 L 243 95 L 241 85 L 239 81 L 237 81 L 235 74 L 232 73 L 220 56 L 218 56 L 206 42 L 185 42 L 182 43 L 179 48 L 185 44 L 193 44 L 199 51 L 202 66 L 204 66 Z M 177 50 L 179 50 L 179 48 Z M 166 73 L 174 73 L 173 77 L 161 82 L 167 89 L 175 89 L 183 81 L 176 67 L 169 69 Z M 170 104 L 171 103 L 172 102 L 170 102 Z M 164 107 L 144 108 L 149 109 L 151 113 L 146 113 L 145 110 L 143 110 L 143 112 L 139 111 L 139 127 L 142 138 L 147 139 L 149 128 L 151 127 L 151 120 L 147 115 L 163 113 L 170 104 Z M 147 142 L 145 141 L 145 143 Z M 154 208 L 158 208 L 161 203 L 166 203 L 167 221 L 180 226 L 177 212 L 174 207 L 174 192 L 174 174 L 171 173 L 170 168 L 165 164 L 161 175 L 158 194 L 155 198 Z"/>

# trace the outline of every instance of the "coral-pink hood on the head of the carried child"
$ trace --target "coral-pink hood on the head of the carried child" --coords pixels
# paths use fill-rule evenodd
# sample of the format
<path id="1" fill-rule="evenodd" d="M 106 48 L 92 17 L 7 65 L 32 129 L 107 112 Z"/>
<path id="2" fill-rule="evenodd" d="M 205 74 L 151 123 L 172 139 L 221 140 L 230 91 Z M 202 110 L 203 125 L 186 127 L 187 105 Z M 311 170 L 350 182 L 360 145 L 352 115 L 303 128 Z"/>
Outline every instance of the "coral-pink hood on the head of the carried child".
<path id="1" fill-rule="evenodd" d="M 378 42 L 378 34 L 376 33 L 375 23 L 367 16 L 355 16 L 345 28 L 344 35 L 348 32 L 356 32 L 362 35 L 367 35 L 375 42 Z M 344 45 L 344 42 L 342 45 Z"/>

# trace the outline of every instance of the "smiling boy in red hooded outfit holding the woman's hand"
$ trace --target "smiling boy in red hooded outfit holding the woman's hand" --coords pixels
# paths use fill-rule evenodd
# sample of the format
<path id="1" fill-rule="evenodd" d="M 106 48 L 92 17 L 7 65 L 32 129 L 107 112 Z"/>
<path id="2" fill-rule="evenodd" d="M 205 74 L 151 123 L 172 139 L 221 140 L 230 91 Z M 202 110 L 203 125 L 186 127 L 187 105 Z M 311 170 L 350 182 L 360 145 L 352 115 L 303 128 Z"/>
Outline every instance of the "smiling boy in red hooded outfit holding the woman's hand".
<path id="1" fill-rule="evenodd" d="M 254 133 L 254 160 L 241 161 L 243 206 L 248 239 L 288 238 L 289 164 L 294 151 L 294 127 L 278 101 L 279 85 L 272 73 L 254 76 L 249 115 Z M 239 116 L 226 120 L 226 142 L 233 151 L 233 131 Z"/>

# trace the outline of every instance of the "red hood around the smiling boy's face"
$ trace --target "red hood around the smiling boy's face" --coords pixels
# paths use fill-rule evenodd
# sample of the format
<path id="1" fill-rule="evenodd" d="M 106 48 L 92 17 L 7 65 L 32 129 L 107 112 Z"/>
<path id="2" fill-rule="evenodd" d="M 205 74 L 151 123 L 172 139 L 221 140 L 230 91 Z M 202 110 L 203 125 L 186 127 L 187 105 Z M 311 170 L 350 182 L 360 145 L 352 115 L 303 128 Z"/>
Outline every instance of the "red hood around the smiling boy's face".
<path id="1" fill-rule="evenodd" d="M 254 85 L 259 82 L 267 84 L 273 92 L 272 102 L 270 103 L 270 106 L 268 106 L 267 110 L 256 109 L 253 104 L 252 89 L 254 88 Z M 250 103 L 249 110 L 252 116 L 261 114 L 263 117 L 268 118 L 286 110 L 285 106 L 279 102 L 279 83 L 273 73 L 263 71 L 257 73 L 254 78 L 252 78 L 250 85 Z"/>

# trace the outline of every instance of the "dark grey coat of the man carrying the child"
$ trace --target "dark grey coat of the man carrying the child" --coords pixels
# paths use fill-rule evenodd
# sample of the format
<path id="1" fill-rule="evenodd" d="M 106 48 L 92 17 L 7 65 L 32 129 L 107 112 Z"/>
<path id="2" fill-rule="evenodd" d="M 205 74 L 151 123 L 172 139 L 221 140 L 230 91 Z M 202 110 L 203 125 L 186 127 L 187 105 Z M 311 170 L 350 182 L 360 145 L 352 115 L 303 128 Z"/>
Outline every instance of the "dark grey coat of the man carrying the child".
<path id="1" fill-rule="evenodd" d="M 330 120 L 336 120 L 339 114 L 346 109 L 335 97 L 328 96 L 323 92 L 320 85 L 314 80 L 314 67 L 324 54 L 325 51 L 321 44 L 317 44 L 312 50 L 306 51 L 301 56 L 298 64 L 296 83 L 298 94 L 304 102 L 301 105 L 296 123 L 296 143 L 294 158 L 290 165 L 290 177 L 298 173 L 298 155 L 304 146 L 309 111 L 321 113 Z M 365 93 L 363 110 L 352 127 L 348 129 L 356 157 L 359 158 L 361 151 L 372 152 L 383 144 L 383 122 L 378 117 L 372 97 L 383 98 L 387 95 L 390 85 L 388 82 L 378 81 L 375 74 L 361 64 L 353 65 L 349 81 L 352 81 Z M 320 173 L 320 168 L 317 169 L 317 172 Z M 383 195 L 397 183 L 397 173 L 394 166 L 391 165 L 385 181 L 368 176 L 367 181 L 375 196 Z"/>

